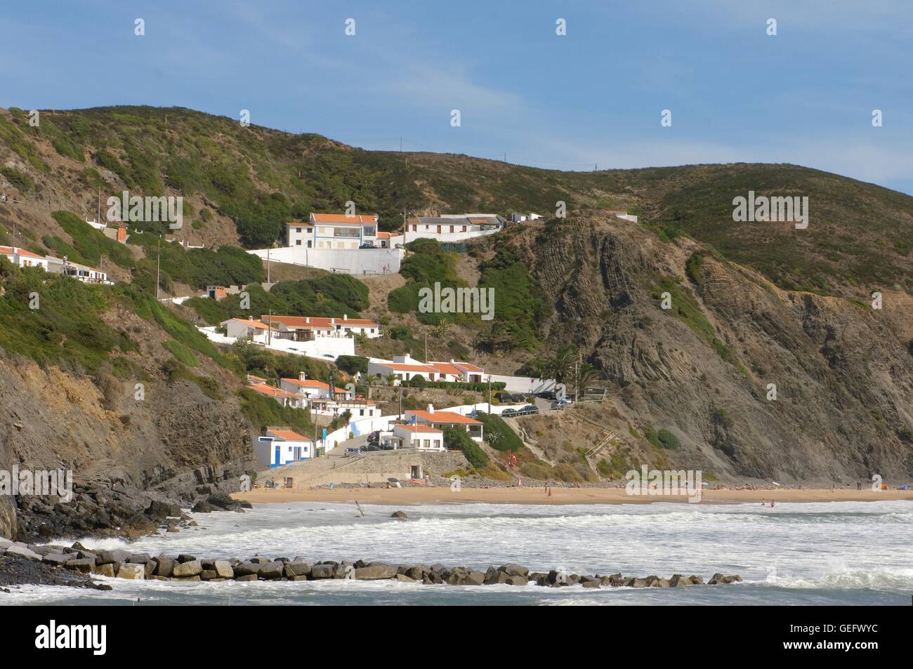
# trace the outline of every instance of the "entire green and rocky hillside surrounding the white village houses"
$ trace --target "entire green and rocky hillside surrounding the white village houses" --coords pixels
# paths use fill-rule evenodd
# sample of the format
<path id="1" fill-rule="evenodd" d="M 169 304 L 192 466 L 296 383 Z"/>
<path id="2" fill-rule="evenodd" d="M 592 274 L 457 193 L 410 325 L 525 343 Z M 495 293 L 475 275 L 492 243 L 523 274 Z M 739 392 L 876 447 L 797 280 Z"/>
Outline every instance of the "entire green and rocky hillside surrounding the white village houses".
<path id="1" fill-rule="evenodd" d="M 329 370 L 217 349 L 192 323 L 274 308 L 379 319 L 390 336 L 360 342 L 362 355 L 424 358 L 427 340 L 431 359 L 496 373 L 553 371 L 559 357 L 570 373 L 576 361 L 586 382 L 607 390 L 582 411 L 622 435 L 600 465 L 606 477 L 642 462 L 728 481 L 913 476 L 913 198 L 901 193 L 794 165 L 555 172 L 367 152 L 134 107 L 42 112 L 39 128 L 21 110 L 0 110 L 0 190 L 15 197 L 0 203 L 0 244 L 103 263 L 118 282 L 88 287 L 0 259 L 0 468 L 66 464 L 78 478 L 139 486 L 186 483 L 201 467 L 214 478 L 246 471 L 263 425 L 312 423 L 243 391 L 245 372 L 273 379 L 303 366 L 325 380 Z M 123 246 L 81 220 L 94 218 L 99 195 L 104 214 L 105 198 L 123 190 L 183 195 L 184 228 L 165 239 L 206 245 L 162 242 L 165 294 L 250 284 L 251 308 L 237 298 L 156 303 L 165 230 L 131 224 Z M 807 195 L 809 227 L 734 223 L 732 199 L 750 190 Z M 413 243 L 395 277 L 285 267 L 273 276 L 280 283 L 261 288 L 260 261 L 238 245 L 275 243 L 289 218 L 338 212 L 347 200 L 380 213 L 385 229 L 401 224 L 404 208 L 547 218 L 465 254 Z M 558 200 L 567 218 L 552 217 Z M 494 288 L 495 319 L 417 312 L 418 288 L 436 281 Z M 883 309 L 870 308 L 873 290 Z M 39 310 L 26 306 L 32 292 Z M 661 308 L 664 293 L 671 309 Z M 570 418 L 518 423 L 530 452 L 553 464 L 582 465 L 578 449 L 598 438 Z M 0 533 L 11 517 L 0 499 Z"/>

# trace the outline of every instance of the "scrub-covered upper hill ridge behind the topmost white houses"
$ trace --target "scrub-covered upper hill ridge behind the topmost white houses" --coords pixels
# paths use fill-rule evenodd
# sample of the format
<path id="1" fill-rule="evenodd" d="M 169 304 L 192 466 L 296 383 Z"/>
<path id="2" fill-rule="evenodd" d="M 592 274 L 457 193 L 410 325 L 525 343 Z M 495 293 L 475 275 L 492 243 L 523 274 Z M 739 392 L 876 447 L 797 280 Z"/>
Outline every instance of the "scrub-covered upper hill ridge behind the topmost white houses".
<path id="1" fill-rule="evenodd" d="M 862 298 L 913 287 L 913 198 L 796 165 L 729 164 L 559 172 L 465 155 L 371 152 L 180 108 L 0 110 L 0 163 L 37 238 L 43 212 L 86 214 L 98 194 L 184 195 L 181 239 L 267 246 L 282 224 L 352 200 L 383 229 L 420 212 L 627 209 L 663 238 L 687 235 L 779 287 Z M 808 196 L 810 225 L 735 223 L 749 191 Z M 102 198 L 103 199 L 103 198 Z M 103 203 L 102 203 L 103 204 Z M 42 220 L 43 219 L 43 220 Z M 9 219 L 0 225 L 9 227 Z"/>

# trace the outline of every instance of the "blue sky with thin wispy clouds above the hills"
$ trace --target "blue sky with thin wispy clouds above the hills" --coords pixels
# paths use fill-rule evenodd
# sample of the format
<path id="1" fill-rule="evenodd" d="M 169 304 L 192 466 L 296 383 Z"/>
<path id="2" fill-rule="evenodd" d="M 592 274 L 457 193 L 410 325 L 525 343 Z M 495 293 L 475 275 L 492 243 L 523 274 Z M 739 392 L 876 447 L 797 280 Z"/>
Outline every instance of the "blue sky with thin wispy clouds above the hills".
<path id="1" fill-rule="evenodd" d="M 913 193 L 910 0 L 50 0 L 5 4 L 0 35 L 3 107 L 247 109 L 367 149 L 793 162 Z"/>

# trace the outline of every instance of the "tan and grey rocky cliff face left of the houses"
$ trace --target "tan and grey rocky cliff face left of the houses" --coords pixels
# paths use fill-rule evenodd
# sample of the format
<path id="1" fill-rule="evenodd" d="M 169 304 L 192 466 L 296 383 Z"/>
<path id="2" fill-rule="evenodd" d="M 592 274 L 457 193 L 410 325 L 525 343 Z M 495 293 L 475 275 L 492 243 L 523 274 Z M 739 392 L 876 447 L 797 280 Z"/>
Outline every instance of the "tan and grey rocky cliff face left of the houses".
<path id="1" fill-rule="evenodd" d="M 149 363 L 151 375 L 161 376 L 151 351 L 136 355 Z M 211 373 L 220 373 L 212 367 Z M 237 382 L 221 373 L 230 391 Z M 134 381 L 111 377 L 102 392 L 97 380 L 78 372 L 0 358 L 0 469 L 71 470 L 77 486 L 121 482 L 191 502 L 197 486 L 230 492 L 237 476 L 256 469 L 249 428 L 232 392 L 214 400 L 194 382 L 151 376 L 137 401 Z M 26 496 L 16 501 L 26 516 L 50 512 Z M 12 498 L 0 497 L 0 535 L 16 536 L 15 512 Z"/>

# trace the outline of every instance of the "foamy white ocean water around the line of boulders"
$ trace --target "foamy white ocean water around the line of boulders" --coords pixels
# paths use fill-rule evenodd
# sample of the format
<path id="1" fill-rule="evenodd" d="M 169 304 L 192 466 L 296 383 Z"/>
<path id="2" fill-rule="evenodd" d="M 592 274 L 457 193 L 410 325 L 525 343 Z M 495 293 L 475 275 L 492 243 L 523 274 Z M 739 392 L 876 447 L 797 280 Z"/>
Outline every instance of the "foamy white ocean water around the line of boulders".
<path id="1" fill-rule="evenodd" d="M 913 504 L 786 504 L 397 507 L 310 502 L 256 505 L 245 514 L 196 514 L 199 528 L 128 544 L 80 539 L 88 548 L 127 548 L 200 558 L 389 560 L 486 570 L 519 562 L 530 570 L 625 576 L 673 573 L 743 583 L 672 590 L 458 587 L 395 581 L 175 583 L 105 579 L 112 591 L 24 586 L 13 604 L 900 604 L 913 593 Z"/>

